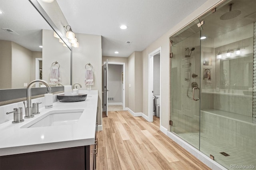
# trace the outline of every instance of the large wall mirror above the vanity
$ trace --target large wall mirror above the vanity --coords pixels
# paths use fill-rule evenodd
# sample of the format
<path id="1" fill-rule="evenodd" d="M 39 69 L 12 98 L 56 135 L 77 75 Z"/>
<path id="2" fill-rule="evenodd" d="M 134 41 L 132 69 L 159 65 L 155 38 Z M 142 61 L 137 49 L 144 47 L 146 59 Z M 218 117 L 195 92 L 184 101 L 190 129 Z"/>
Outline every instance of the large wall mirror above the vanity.
<path id="1" fill-rule="evenodd" d="M 56 5 L 54 3 L 47 5 Z M 42 17 L 40 14 L 44 12 L 36 9 L 35 4 L 39 5 L 33 0 L 0 1 L 0 102 L 8 100 L 3 99 L 3 91 L 6 89 L 9 92 L 12 89 L 26 89 L 35 79 L 50 82 L 53 67 L 60 67 L 60 83 L 71 84 L 72 51 L 54 37 L 54 30 L 60 37 L 63 30 L 58 30 L 56 25 L 50 25 L 52 20 L 49 21 L 49 16 L 48 20 L 47 17 Z M 42 15 L 47 14 L 45 12 Z M 54 82 L 52 86 L 54 87 Z M 36 87 L 40 87 L 40 84 Z M 18 97 L 13 97 L 16 98 Z"/>

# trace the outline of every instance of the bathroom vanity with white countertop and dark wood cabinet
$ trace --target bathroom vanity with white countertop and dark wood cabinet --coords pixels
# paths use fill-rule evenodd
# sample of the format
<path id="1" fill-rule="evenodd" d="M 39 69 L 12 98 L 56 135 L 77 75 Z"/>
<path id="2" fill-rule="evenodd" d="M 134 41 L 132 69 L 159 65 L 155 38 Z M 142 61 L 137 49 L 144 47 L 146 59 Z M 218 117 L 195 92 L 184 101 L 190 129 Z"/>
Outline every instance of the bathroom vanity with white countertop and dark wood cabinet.
<path id="1" fill-rule="evenodd" d="M 56 101 L 48 109 L 42 103 L 34 118 L 0 124 L 0 169 L 95 169 L 98 91 L 79 93 L 87 99 Z M 6 108 L 0 107 L 1 115 Z"/>

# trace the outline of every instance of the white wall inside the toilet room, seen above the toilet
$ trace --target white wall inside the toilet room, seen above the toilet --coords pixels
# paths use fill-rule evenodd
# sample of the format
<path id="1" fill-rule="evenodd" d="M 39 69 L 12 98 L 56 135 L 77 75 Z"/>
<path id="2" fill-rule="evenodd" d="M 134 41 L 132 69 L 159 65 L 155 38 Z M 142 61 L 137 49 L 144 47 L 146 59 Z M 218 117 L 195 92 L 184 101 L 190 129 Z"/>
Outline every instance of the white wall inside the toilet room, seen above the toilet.
<path id="1" fill-rule="evenodd" d="M 154 55 L 153 60 L 153 95 L 160 95 L 160 55 Z"/>

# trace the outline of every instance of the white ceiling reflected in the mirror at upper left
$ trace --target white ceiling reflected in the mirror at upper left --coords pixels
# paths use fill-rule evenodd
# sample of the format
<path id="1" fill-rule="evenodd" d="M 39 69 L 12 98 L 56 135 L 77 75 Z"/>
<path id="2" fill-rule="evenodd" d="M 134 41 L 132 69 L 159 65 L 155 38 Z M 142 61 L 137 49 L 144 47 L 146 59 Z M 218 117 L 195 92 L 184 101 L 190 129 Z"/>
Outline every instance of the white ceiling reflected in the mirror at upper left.
<path id="1" fill-rule="evenodd" d="M 22 8 L 21 8 L 22 7 Z M 12 41 L 30 49 L 42 51 L 42 29 L 51 30 L 47 22 L 28 0 L 0 0 L 0 40 Z M 8 28 L 16 32 L 6 32 Z"/>

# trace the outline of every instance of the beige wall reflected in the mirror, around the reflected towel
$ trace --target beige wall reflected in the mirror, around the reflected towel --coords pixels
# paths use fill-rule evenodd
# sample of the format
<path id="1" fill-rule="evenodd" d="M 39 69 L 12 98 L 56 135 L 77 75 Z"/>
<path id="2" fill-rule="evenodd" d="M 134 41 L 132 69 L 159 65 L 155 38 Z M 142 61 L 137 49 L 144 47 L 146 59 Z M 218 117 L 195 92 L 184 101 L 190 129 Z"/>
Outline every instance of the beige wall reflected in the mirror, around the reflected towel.
<path id="1" fill-rule="evenodd" d="M 53 30 L 43 30 L 42 41 L 42 79 L 47 82 L 50 81 L 52 63 L 58 61 L 60 64 L 60 83 L 70 85 L 70 49 L 64 47 L 53 36 Z"/>

